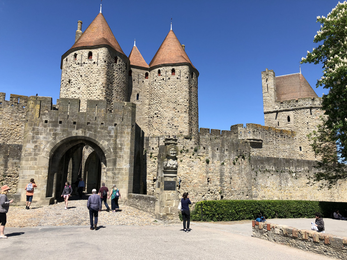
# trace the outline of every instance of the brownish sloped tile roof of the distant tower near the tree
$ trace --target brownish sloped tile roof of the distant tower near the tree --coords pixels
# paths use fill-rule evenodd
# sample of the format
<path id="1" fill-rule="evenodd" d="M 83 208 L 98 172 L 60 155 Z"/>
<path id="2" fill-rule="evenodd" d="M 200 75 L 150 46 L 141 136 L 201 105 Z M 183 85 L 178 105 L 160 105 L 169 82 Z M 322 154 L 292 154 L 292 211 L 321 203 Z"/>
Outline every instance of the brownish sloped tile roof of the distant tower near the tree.
<path id="1" fill-rule="evenodd" d="M 304 97 L 318 97 L 301 73 L 276 77 L 277 102 Z"/>

